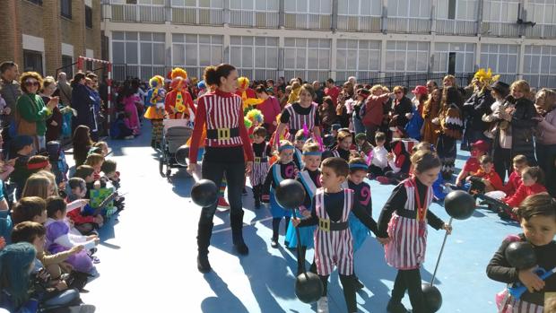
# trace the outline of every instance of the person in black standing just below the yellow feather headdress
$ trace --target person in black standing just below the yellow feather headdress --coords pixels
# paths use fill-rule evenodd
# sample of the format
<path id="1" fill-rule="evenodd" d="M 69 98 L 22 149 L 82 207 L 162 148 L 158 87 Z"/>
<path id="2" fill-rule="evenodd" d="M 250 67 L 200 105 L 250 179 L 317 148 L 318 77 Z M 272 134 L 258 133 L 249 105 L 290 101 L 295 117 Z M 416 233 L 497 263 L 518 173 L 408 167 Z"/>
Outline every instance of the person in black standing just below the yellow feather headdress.
<path id="1" fill-rule="evenodd" d="M 488 90 L 484 83 L 479 80 L 473 81 L 476 91 L 473 92 L 471 98 L 464 103 L 465 115 L 465 137 L 467 143 L 476 143 L 479 140 L 491 142 L 484 132 L 488 129 L 489 124 L 482 121 L 483 115 L 491 114 L 491 105 L 494 98 L 491 91 Z"/>

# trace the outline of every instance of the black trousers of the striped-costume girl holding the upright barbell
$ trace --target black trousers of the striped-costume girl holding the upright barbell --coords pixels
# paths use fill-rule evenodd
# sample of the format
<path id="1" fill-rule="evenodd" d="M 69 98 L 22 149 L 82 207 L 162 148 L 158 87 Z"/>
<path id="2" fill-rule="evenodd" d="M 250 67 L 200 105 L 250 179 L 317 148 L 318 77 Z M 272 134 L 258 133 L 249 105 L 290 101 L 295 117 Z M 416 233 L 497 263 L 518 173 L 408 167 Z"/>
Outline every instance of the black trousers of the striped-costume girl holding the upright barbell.
<path id="1" fill-rule="evenodd" d="M 421 272 L 419 268 L 413 270 L 398 270 L 395 276 L 391 302 L 399 303 L 409 293 L 413 313 L 425 313 L 425 300 L 421 289 Z"/>

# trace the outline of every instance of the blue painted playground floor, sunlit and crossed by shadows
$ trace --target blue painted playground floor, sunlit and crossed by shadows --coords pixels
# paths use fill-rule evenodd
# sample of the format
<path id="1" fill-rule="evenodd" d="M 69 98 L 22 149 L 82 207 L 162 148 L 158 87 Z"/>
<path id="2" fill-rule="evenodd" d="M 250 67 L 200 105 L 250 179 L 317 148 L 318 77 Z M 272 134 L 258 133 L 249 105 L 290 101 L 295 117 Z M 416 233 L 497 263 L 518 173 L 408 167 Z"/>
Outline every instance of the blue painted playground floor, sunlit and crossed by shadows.
<path id="1" fill-rule="evenodd" d="M 297 300 L 293 291 L 295 251 L 270 247 L 269 212 L 253 209 L 250 189 L 243 198 L 249 255 L 234 255 L 229 214 L 217 213 L 209 255 L 213 272 L 197 272 L 195 235 L 200 208 L 189 197 L 193 178 L 185 170 L 173 170 L 171 182 L 162 178 L 158 153 L 149 143 L 148 126 L 133 141 L 109 142 L 110 157 L 122 173 L 122 190 L 128 192 L 126 210 L 101 230 L 100 275 L 86 287 L 89 292 L 82 295 L 83 300 L 95 305 L 97 312 L 314 312 L 316 307 Z M 458 155 L 458 168 L 467 156 Z M 376 181 L 370 184 L 373 215 L 378 219 L 393 187 Z M 430 209 L 448 220 L 439 204 Z M 494 295 L 504 286 L 489 280 L 485 267 L 502 239 L 520 229 L 485 209 L 453 226 L 437 280 L 444 298 L 440 312 L 493 312 Z M 430 229 L 421 269 L 424 281 L 430 281 L 443 236 L 443 231 Z M 307 259 L 312 257 L 308 251 Z M 385 263 L 384 250 L 374 238 L 367 239 L 355 255 L 355 270 L 366 286 L 357 298 L 361 312 L 386 312 L 395 270 Z M 331 282 L 330 312 L 344 312 L 337 274 Z M 407 296 L 404 304 L 411 307 Z"/>

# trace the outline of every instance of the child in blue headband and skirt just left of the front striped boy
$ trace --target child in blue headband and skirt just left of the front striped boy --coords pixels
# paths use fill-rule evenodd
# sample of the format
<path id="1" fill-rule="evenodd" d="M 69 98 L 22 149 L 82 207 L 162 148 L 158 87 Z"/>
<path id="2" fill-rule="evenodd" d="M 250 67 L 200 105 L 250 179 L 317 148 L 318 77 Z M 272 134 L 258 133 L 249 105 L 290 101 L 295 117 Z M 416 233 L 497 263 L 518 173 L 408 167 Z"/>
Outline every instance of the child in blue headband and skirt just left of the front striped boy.
<path id="1" fill-rule="evenodd" d="M 305 167 L 300 171 L 297 180 L 300 181 L 301 185 L 305 188 L 305 202 L 300 206 L 300 211 L 297 218 L 308 217 L 311 214 L 310 208 L 313 201 L 313 196 L 317 192 L 317 188 L 320 187 L 320 166 L 321 152 L 317 143 L 305 143 L 303 145 L 303 155 L 301 157 Z M 290 222 L 291 223 L 291 222 Z M 298 239 L 296 237 L 296 232 L 291 225 L 288 226 L 288 231 L 286 232 L 286 241 L 290 243 L 288 248 L 299 248 L 300 258 L 298 259 L 298 275 L 303 272 L 305 267 L 305 252 L 307 248 L 313 248 L 313 232 L 315 227 L 305 227 L 300 229 L 300 245 L 298 245 Z"/>

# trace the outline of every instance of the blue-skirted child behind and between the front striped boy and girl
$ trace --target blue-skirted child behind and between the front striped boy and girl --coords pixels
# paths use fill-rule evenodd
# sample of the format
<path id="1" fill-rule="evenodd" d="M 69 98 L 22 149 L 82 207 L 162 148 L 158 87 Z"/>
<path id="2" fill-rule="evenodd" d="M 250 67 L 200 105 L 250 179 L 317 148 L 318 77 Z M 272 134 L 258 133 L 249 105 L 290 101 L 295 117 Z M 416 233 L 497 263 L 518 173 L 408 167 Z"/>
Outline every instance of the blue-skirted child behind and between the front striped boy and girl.
<path id="1" fill-rule="evenodd" d="M 350 174 L 348 175 L 347 184 L 354 193 L 354 201 L 361 204 L 365 211 L 372 216 L 372 201 L 370 199 L 370 186 L 364 179 L 367 177 L 367 172 L 369 171 L 369 166 L 363 158 L 352 158 L 350 161 Z M 355 214 L 350 213 L 350 230 L 352 230 L 353 237 L 353 253 L 357 252 L 359 248 L 365 242 L 365 239 L 369 236 L 369 229 L 355 216 Z M 353 272 L 353 278 L 356 289 L 362 289 L 365 287 L 361 281 L 357 278 L 355 272 Z"/>

